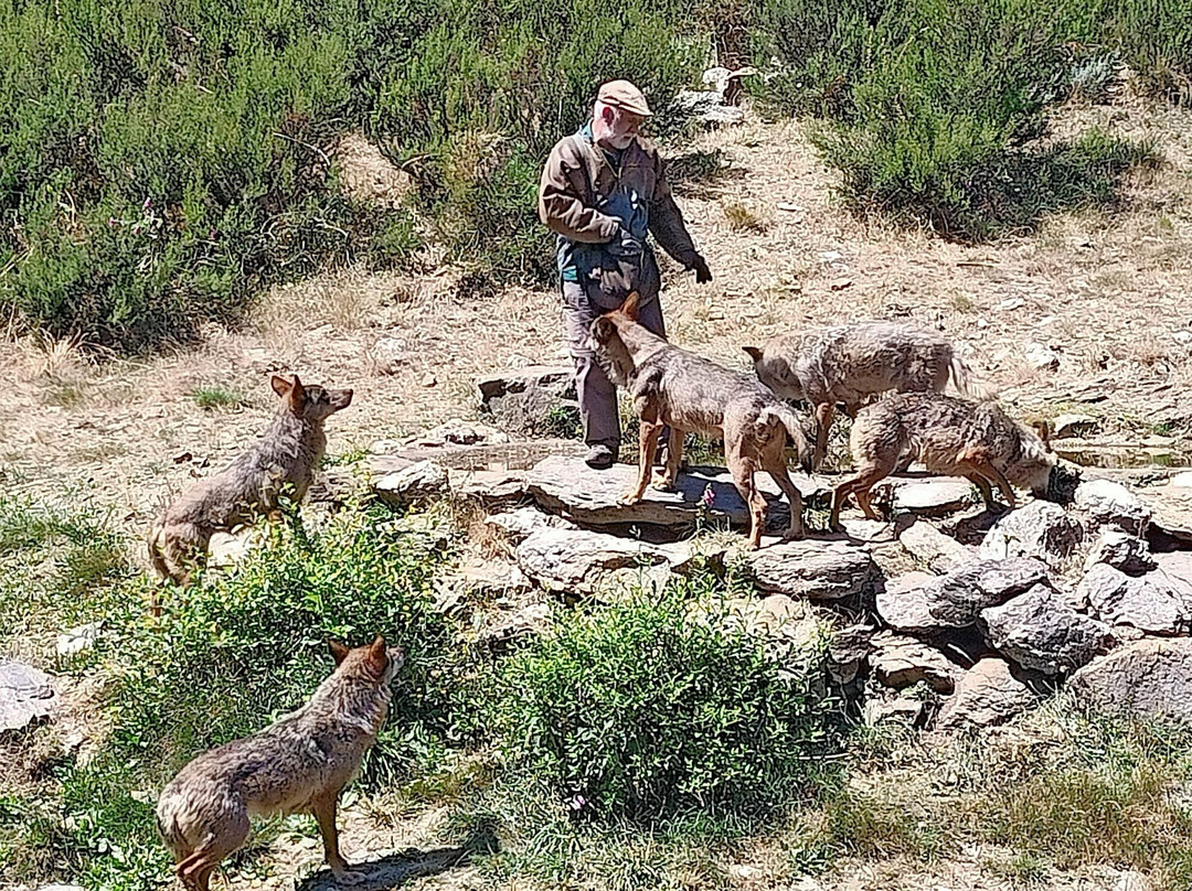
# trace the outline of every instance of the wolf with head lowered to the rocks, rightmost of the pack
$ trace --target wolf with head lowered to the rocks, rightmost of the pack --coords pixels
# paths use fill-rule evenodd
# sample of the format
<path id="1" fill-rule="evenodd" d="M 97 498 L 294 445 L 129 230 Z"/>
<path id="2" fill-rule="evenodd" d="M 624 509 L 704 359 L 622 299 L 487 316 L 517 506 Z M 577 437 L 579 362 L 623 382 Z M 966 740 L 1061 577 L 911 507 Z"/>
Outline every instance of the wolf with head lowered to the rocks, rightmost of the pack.
<path id="1" fill-rule="evenodd" d="M 970 403 L 942 393 L 900 393 L 862 409 L 849 441 L 857 476 L 842 482 L 832 496 L 832 526 L 849 494 L 869 519 L 877 519 L 869 490 L 909 454 L 932 473 L 967 476 L 993 507 L 991 482 L 1013 507 L 1011 484 L 1037 498 L 1051 490 L 1057 459 L 1048 443 L 1047 425 L 1031 430 L 1013 420 L 997 403 Z"/>

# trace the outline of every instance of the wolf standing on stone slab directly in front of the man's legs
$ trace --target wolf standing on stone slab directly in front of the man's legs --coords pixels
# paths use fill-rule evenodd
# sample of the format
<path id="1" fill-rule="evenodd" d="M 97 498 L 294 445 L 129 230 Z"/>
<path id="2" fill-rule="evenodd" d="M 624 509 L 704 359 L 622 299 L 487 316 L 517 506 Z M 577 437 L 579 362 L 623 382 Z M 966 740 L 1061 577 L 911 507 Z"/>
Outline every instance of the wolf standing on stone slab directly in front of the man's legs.
<path id="1" fill-rule="evenodd" d="M 765 522 L 765 498 L 753 474 L 766 471 L 790 501 L 787 537 L 803 535 L 802 496 L 787 473 L 789 435 L 806 463 L 807 443 L 789 405 L 755 378 L 724 368 L 679 349 L 638 323 L 638 295 L 591 325 L 592 349 L 609 378 L 627 387 L 641 419 L 638 485 L 625 497 L 635 504 L 646 493 L 658 436 L 670 426 L 666 466 L 656 485 L 672 488 L 683 454 L 683 436 L 722 436 L 725 460 L 737 491 L 750 509 L 750 547 L 757 548 Z"/>

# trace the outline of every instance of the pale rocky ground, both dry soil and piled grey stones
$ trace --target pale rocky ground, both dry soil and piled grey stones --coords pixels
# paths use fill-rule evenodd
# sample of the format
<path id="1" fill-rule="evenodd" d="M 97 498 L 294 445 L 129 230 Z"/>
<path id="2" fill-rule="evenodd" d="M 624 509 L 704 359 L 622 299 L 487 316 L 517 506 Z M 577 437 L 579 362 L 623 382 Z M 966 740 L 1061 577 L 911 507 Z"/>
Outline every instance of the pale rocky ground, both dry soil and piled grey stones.
<path id="1" fill-rule="evenodd" d="M 110 507 L 135 541 L 166 500 L 263 428 L 268 374 L 298 372 L 356 391 L 329 422 L 331 467 L 312 498 L 334 504 L 364 485 L 402 505 L 454 503 L 473 547 L 443 597 L 496 604 L 479 631 L 492 646 L 541 630 L 552 597 L 610 598 L 627 581 L 710 567 L 753 580 L 766 597 L 743 609 L 775 636 L 830 622 L 836 680 L 875 725 L 997 727 L 1057 687 L 1107 712 L 1192 719 L 1192 475 L 1179 469 L 1192 429 L 1192 116 L 1143 105 L 1067 116 L 1066 126 L 1153 138 L 1162 166 L 1128 182 L 1112 212 L 1057 214 L 982 247 L 851 217 L 799 124 L 750 118 L 703 135 L 672 154 L 716 280 L 696 286 L 664 269 L 663 301 L 672 339 L 740 368 L 740 345 L 806 325 L 933 326 L 1012 413 L 1058 420 L 1066 455 L 1132 466 L 1086 468 L 1072 505 L 989 513 L 967 481 L 912 473 L 875 491 L 887 522 L 846 513 L 845 531 L 830 534 L 824 497 L 840 476 L 799 476 L 811 537 L 766 537 L 756 553 L 740 549 L 744 510 L 720 468 L 693 468 L 677 493 L 621 507 L 634 468 L 589 472 L 575 442 L 552 437 L 573 417 L 554 293 L 465 293 L 466 270 L 429 253 L 417 274 L 348 270 L 278 288 L 242 329 L 212 328 L 169 355 L 97 359 L 8 338 L 0 480 L 8 493 Z M 361 459 L 364 480 L 346 457 Z M 784 524 L 775 504 L 771 529 Z M 43 706 L 45 677 L 0 678 L 31 711 Z M 460 852 L 423 853 L 434 815 L 386 823 L 361 804 L 346 820 L 349 856 L 389 858 L 377 887 L 411 872 L 432 876 L 410 886 L 476 881 Z M 420 850 L 401 854 L 408 846 Z M 232 885 L 286 886 L 319 859 L 305 835 L 275 847 L 267 878 Z M 746 852 L 727 885 L 774 886 L 763 861 Z M 795 887 L 1013 885 L 982 862 L 890 856 Z M 1109 868 L 1048 881 L 1144 887 Z"/>

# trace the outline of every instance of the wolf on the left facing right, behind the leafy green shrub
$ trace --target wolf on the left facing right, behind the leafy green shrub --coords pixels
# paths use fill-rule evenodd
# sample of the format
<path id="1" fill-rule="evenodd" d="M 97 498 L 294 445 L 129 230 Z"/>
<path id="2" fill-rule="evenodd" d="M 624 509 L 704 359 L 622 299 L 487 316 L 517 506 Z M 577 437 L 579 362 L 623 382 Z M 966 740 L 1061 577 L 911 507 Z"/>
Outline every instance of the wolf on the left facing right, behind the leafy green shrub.
<path id="1" fill-rule="evenodd" d="M 292 487 L 302 500 L 315 467 L 323 459 L 323 422 L 352 403 L 350 390 L 303 386 L 274 375 L 280 397 L 268 430 L 248 451 L 219 473 L 186 490 L 149 535 L 149 560 L 162 578 L 185 584 L 187 565 L 207 553 L 211 536 L 229 532 L 265 513 L 278 518 L 278 497 Z"/>

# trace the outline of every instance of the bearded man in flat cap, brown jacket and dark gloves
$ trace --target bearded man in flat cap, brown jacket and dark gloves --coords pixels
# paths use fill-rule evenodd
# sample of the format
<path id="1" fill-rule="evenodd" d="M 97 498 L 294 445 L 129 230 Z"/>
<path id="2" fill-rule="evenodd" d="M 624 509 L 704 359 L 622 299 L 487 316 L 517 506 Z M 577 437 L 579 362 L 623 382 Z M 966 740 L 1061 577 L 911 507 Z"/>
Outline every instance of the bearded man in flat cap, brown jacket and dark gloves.
<path id="1" fill-rule="evenodd" d="M 637 291 L 642 325 L 664 335 L 660 279 L 652 232 L 663 249 L 712 281 L 671 195 L 658 150 L 638 136 L 651 117 L 641 91 L 628 81 L 600 88 L 592 117 L 560 139 L 542 170 L 538 216 L 558 237 L 563 322 L 576 363 L 576 391 L 589 467 L 607 469 L 621 444 L 616 388 L 588 345 L 596 316 L 617 309 Z"/>

